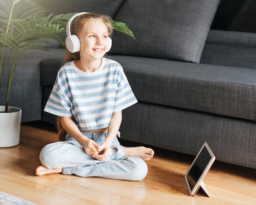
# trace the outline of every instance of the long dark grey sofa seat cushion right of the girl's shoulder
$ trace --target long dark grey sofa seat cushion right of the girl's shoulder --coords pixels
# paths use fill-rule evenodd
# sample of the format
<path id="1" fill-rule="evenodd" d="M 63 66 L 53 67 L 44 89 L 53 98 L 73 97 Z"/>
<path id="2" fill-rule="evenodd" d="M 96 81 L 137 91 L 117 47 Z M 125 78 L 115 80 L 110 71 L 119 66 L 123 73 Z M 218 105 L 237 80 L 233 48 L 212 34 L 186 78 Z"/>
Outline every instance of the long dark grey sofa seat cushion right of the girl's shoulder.
<path id="1" fill-rule="evenodd" d="M 256 70 L 112 56 L 138 101 L 256 120 Z"/>

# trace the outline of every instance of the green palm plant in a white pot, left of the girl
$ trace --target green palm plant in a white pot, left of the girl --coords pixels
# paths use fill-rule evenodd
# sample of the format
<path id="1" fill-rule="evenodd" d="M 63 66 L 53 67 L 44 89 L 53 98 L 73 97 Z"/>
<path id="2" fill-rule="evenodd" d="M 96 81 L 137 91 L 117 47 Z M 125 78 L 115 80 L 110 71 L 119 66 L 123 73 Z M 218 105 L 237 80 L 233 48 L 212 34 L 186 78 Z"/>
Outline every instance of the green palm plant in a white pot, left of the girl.
<path id="1" fill-rule="evenodd" d="M 2 4 L 4 3 L 4 4 Z M 49 51 L 40 44 L 56 40 L 65 46 L 65 26 L 75 14 L 61 14 L 40 17 L 38 13 L 44 10 L 31 0 L 2 0 L 0 4 L 0 77 L 2 69 L 8 69 L 7 92 L 5 105 L 0 106 L 0 147 L 18 145 L 20 137 L 21 110 L 9 107 L 9 94 L 13 75 L 18 64 L 28 48 Z M 114 30 L 133 36 L 128 26 L 122 22 L 113 21 Z M 38 44 L 40 43 L 40 44 Z M 2 67 L 4 53 L 9 49 L 9 67 Z M 2 94 L 1 94 L 2 95 Z M 0 96 L 3 97 L 3 96 Z M 16 116 L 17 114 L 17 116 Z M 7 119 L 7 116 L 13 119 Z M 1 121 L 2 120 L 2 121 Z M 11 125 L 14 126 L 11 128 Z M 11 132 L 9 132 L 10 130 Z M 8 136 L 8 137 L 7 137 Z"/>

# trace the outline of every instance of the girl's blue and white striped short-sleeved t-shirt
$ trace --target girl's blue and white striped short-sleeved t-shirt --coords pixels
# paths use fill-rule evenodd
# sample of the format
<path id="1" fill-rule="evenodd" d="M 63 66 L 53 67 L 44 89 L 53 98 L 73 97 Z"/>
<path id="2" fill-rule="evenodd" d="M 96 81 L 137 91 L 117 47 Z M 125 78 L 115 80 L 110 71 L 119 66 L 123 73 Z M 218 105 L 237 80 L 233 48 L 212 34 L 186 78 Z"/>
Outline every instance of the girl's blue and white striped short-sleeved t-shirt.
<path id="1" fill-rule="evenodd" d="M 74 62 L 58 71 L 44 111 L 73 117 L 81 131 L 108 127 L 112 113 L 137 103 L 122 66 L 102 58 L 92 73 L 80 71 Z"/>

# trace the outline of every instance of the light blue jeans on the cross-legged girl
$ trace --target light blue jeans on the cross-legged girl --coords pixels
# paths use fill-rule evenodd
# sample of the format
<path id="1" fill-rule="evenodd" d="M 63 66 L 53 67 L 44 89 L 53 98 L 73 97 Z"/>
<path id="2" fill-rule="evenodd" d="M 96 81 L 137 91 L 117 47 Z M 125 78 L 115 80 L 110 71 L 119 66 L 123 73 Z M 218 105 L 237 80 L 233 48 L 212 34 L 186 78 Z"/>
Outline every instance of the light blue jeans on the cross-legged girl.
<path id="1" fill-rule="evenodd" d="M 106 133 L 82 132 L 98 145 L 106 139 Z M 99 176 L 109 179 L 142 181 L 148 173 L 146 163 L 139 157 L 124 157 L 124 149 L 117 137 L 111 146 L 112 154 L 105 161 L 99 161 L 86 154 L 83 147 L 70 134 L 65 141 L 46 145 L 40 152 L 42 165 L 49 169 L 63 168 L 62 174 L 82 177 Z"/>

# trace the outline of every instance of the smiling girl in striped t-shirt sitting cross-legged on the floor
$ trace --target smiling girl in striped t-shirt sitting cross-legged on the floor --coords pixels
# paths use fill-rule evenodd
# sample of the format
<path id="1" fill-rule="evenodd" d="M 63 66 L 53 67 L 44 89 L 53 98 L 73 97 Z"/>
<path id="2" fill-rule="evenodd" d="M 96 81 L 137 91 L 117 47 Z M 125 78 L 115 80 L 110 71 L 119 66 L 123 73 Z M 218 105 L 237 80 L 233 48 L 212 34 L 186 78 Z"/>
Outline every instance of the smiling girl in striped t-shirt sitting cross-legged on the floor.
<path id="1" fill-rule="evenodd" d="M 62 173 L 141 181 L 148 172 L 144 161 L 154 151 L 120 145 L 122 110 L 135 98 L 121 65 L 103 56 L 109 50 L 111 18 L 83 13 L 71 30 L 79 52 L 67 51 L 45 111 L 58 116 L 60 140 L 40 152 L 36 175 Z M 63 136 L 64 133 L 64 136 Z"/>

